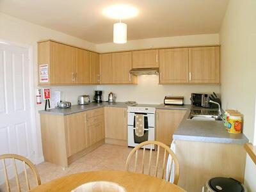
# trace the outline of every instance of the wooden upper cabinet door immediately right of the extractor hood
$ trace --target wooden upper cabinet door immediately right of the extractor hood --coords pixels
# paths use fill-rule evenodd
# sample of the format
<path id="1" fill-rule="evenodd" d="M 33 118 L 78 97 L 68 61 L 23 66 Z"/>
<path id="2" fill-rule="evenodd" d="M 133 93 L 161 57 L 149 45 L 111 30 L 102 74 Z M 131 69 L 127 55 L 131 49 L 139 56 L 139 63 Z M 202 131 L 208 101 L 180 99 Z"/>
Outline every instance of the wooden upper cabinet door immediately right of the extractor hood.
<path id="1" fill-rule="evenodd" d="M 188 48 L 161 49 L 160 83 L 188 83 Z"/>

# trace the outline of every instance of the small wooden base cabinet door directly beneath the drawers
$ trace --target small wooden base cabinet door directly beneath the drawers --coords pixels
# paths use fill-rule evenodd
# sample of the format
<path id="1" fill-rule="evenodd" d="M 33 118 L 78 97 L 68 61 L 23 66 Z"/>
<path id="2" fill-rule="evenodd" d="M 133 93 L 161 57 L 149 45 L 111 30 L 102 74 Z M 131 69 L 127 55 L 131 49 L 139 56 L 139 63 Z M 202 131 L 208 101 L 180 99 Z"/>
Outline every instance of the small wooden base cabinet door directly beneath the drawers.
<path id="1" fill-rule="evenodd" d="M 99 122 L 95 125 L 90 125 L 87 127 L 87 147 L 103 140 L 104 136 L 104 122 Z"/>

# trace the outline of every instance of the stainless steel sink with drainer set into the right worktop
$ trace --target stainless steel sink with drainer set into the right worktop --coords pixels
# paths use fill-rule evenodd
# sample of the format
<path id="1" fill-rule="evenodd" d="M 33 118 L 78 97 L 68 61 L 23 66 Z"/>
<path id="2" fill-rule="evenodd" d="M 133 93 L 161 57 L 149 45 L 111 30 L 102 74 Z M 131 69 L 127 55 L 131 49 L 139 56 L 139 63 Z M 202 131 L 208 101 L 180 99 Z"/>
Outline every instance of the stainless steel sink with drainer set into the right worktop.
<path id="1" fill-rule="evenodd" d="M 218 111 L 216 110 L 192 109 L 188 116 L 188 120 L 222 121 L 223 117 L 218 115 Z"/>

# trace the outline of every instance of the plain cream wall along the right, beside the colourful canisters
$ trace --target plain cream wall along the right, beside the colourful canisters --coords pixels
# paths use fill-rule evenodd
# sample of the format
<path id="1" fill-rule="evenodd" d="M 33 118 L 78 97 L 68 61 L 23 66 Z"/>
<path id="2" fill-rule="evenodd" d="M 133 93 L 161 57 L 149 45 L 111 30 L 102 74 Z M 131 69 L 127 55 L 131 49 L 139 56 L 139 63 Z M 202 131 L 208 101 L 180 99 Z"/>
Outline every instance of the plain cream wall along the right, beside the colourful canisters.
<path id="1" fill-rule="evenodd" d="M 256 1 L 231 0 L 220 31 L 221 99 L 223 107 L 244 115 L 244 134 L 255 131 Z M 245 184 L 256 191 L 256 166 L 246 157 Z"/>

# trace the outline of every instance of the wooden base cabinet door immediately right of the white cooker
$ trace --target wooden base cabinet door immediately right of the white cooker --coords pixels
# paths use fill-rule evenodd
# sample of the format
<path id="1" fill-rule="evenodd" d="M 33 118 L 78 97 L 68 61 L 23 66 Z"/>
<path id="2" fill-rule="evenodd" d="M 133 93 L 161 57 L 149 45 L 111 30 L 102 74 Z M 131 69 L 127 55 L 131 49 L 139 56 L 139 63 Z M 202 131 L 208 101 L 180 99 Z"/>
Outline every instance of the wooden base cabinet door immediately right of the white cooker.
<path id="1" fill-rule="evenodd" d="M 166 145 L 172 143 L 173 132 L 179 126 L 187 110 L 157 109 L 156 140 Z"/>

